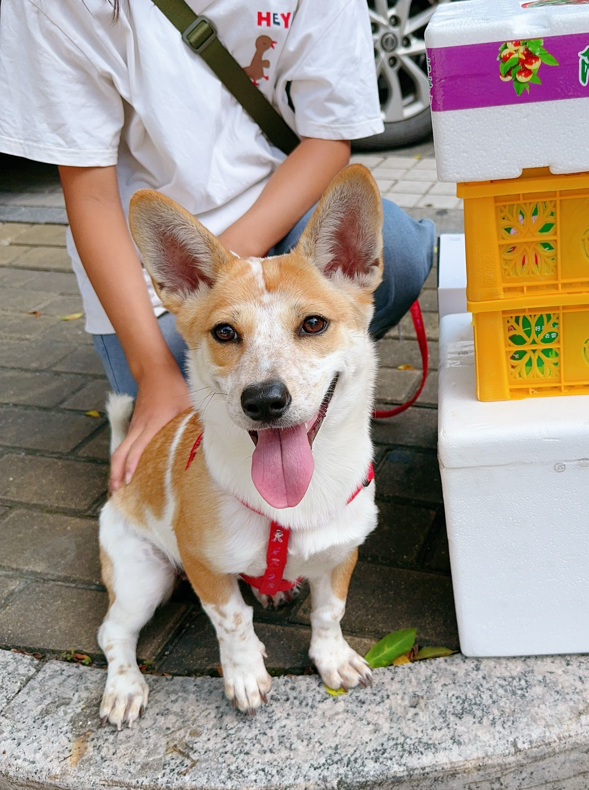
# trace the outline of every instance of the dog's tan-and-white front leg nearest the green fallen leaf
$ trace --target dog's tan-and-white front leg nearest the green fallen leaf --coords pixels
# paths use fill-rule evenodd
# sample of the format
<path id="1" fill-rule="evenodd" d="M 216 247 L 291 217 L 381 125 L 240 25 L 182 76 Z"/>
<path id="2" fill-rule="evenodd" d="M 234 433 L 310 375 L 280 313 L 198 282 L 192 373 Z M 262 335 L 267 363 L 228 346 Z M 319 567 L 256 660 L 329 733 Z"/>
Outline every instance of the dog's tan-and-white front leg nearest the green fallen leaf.
<path id="1" fill-rule="evenodd" d="M 311 646 L 309 655 L 321 679 L 332 689 L 372 685 L 372 672 L 343 638 L 340 626 L 346 611 L 347 587 L 358 559 L 355 548 L 347 559 L 320 577 L 310 578 Z"/>

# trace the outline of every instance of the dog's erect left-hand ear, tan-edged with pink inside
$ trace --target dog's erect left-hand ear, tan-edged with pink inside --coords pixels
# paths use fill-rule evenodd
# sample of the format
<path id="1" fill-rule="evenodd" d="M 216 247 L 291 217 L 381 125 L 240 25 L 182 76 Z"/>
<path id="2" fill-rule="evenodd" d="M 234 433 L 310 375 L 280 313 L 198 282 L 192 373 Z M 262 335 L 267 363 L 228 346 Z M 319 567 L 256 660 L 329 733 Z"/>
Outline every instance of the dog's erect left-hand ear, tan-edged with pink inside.
<path id="1" fill-rule="evenodd" d="M 187 296 L 210 288 L 231 258 L 196 217 L 154 190 L 131 198 L 129 228 L 159 298 L 174 313 Z"/>

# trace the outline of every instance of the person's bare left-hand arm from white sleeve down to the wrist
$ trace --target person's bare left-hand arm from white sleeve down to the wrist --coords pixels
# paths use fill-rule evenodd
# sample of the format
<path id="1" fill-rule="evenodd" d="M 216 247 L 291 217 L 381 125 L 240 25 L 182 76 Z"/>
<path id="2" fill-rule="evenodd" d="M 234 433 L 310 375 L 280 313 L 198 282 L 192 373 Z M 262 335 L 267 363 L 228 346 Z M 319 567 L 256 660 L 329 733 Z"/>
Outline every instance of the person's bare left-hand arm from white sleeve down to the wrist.
<path id="1" fill-rule="evenodd" d="M 159 331 L 118 194 L 114 167 L 60 167 L 73 240 L 133 377 L 174 358 Z"/>

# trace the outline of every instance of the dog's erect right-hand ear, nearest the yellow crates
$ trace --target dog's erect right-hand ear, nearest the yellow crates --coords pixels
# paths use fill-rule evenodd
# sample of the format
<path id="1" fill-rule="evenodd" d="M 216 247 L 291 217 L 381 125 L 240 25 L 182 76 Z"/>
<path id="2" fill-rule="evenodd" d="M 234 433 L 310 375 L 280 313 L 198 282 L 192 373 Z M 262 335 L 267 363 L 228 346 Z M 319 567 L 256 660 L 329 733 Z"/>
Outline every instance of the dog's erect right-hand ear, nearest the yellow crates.
<path id="1" fill-rule="evenodd" d="M 382 277 L 382 202 L 370 171 L 351 164 L 325 190 L 298 243 L 332 280 L 347 278 L 373 292 Z"/>

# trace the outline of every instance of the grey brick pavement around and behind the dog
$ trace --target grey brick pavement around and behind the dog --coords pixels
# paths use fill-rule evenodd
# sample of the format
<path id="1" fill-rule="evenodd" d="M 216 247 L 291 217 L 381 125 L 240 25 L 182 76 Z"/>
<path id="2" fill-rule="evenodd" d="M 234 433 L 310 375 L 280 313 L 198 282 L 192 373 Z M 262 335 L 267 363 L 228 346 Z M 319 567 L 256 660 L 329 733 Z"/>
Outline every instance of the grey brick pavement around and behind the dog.
<path id="1" fill-rule="evenodd" d="M 452 185 L 437 184 L 430 144 L 409 155 L 353 160 L 370 167 L 383 193 L 408 213 L 430 216 L 442 230 L 462 228 L 460 201 Z M 35 189 L 20 198 L 12 189 L 8 199 L 0 184 L 0 216 L 6 216 L 2 205 L 29 220 L 36 215 L 27 206 L 56 209 L 60 193 L 48 176 Z M 436 456 L 435 285 L 434 271 L 420 297 L 430 340 L 426 387 L 417 406 L 373 427 L 380 521 L 361 547 L 343 620 L 362 653 L 389 630 L 407 626 L 418 627 L 420 644 L 458 646 Z M 0 646 L 47 656 L 81 650 L 99 664 L 96 627 L 107 596 L 96 516 L 107 496 L 107 382 L 83 318 L 60 318 L 81 309 L 65 228 L 0 224 Z M 377 350 L 377 399 L 398 404 L 421 378 L 411 318 Z M 98 418 L 85 414 L 92 409 Z M 307 589 L 279 611 L 264 611 L 249 590 L 244 594 L 271 671 L 310 671 Z M 144 629 L 138 653 L 152 671 L 216 674 L 212 627 L 186 581 Z"/>

